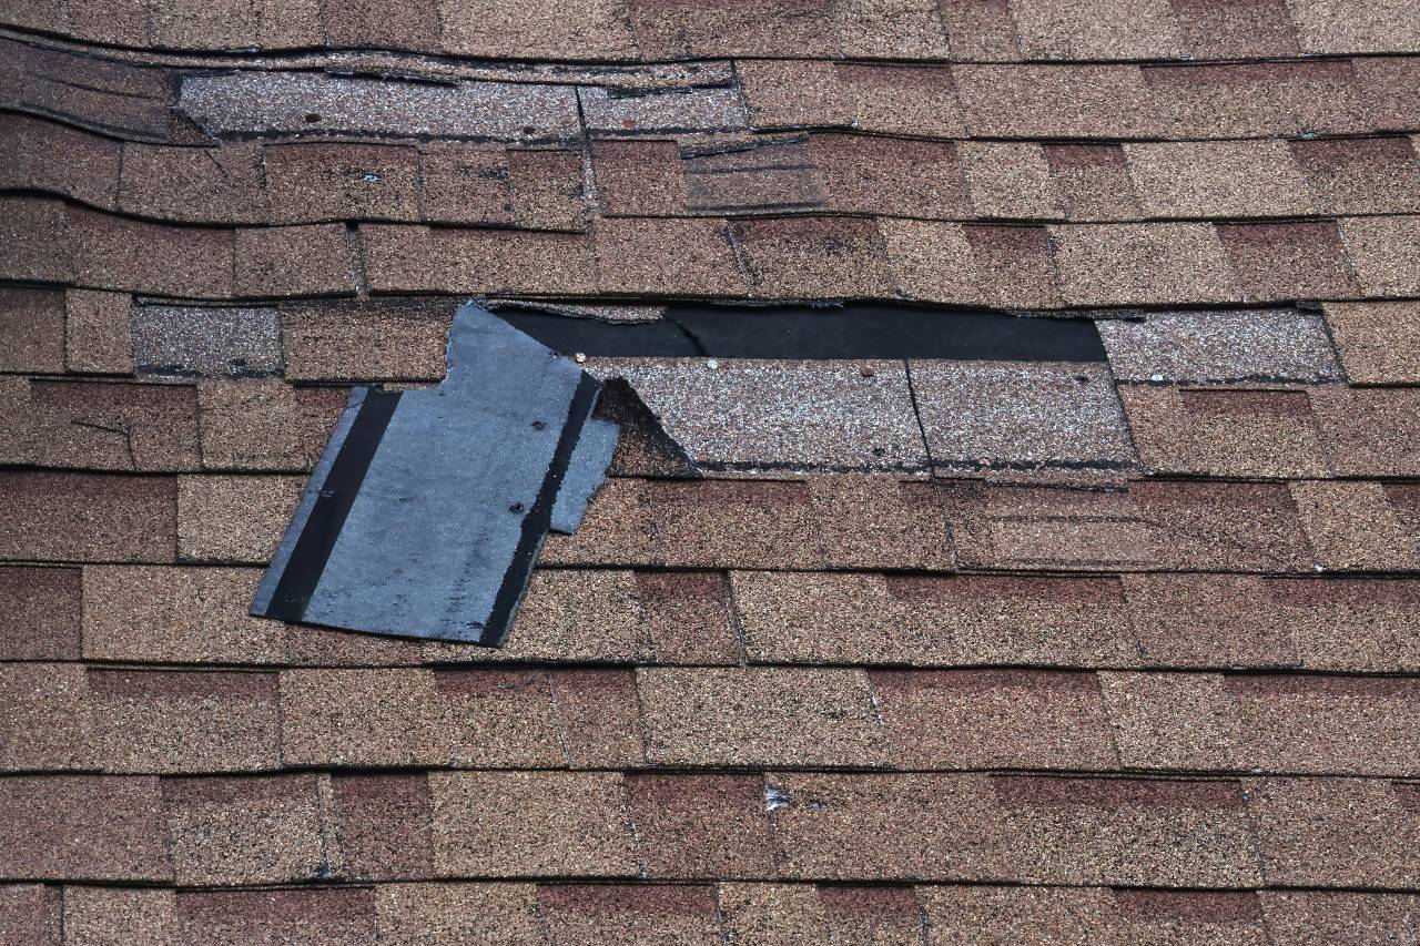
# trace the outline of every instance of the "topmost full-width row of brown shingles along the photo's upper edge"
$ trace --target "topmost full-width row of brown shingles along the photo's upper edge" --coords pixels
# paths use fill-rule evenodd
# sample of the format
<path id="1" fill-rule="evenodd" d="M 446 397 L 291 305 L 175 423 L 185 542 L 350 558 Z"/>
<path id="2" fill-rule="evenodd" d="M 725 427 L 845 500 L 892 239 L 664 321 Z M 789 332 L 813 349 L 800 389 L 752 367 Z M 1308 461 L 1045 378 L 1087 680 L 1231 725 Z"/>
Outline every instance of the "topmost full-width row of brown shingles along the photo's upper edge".
<path id="1" fill-rule="evenodd" d="M 1323 0 L 1032 0 L 1030 3 L 849 3 L 677 0 L 534 4 L 471 10 L 419 0 L 390 11 L 372 0 L 121 0 L 99 14 L 23 3 L 6 23 L 94 43 L 170 50 L 406 50 L 500 57 L 669 60 L 714 55 L 863 55 L 956 60 L 1240 58 L 1410 51 L 1410 9 L 1367 4 L 1348 16 Z M 674 26 L 672 26 L 672 23 Z"/>

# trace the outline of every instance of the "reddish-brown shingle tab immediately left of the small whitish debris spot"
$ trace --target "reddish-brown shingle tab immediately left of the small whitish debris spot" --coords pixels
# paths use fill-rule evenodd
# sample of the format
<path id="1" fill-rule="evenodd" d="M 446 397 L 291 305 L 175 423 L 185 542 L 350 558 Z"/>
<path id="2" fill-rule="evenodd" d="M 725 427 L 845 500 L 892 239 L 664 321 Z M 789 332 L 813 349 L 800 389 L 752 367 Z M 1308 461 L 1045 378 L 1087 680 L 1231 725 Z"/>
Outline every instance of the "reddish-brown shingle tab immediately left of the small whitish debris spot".
<path id="1" fill-rule="evenodd" d="M 626 791 L 649 876 L 774 874 L 760 776 L 640 774 Z"/>

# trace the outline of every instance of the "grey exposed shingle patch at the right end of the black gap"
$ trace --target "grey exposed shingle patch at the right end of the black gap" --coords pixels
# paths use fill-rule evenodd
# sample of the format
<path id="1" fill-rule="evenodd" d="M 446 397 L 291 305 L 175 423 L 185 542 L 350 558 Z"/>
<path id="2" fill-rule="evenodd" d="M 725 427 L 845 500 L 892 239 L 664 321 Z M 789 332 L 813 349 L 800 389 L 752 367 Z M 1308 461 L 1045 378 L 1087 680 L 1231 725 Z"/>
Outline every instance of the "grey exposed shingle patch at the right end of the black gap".
<path id="1" fill-rule="evenodd" d="M 1099 337 L 1120 381 L 1340 381 L 1322 318 L 1292 308 L 1150 312 L 1100 320 Z"/>

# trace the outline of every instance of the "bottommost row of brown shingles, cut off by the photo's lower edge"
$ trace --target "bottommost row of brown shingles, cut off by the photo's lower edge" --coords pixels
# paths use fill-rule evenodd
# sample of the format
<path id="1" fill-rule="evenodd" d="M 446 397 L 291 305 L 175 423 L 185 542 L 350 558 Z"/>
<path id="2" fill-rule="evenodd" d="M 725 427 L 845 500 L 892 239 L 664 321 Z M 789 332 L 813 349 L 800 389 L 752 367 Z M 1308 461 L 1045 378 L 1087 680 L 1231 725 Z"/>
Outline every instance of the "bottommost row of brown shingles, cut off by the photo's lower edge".
<path id="1" fill-rule="evenodd" d="M 0 925 L 34 946 L 224 942 L 310 946 L 425 942 L 506 946 L 883 943 L 998 946 L 1021 930 L 1103 946 L 1383 942 L 1420 922 L 1409 893 L 1119 888 L 426 882 L 339 889 L 175 891 L 17 884 Z"/>

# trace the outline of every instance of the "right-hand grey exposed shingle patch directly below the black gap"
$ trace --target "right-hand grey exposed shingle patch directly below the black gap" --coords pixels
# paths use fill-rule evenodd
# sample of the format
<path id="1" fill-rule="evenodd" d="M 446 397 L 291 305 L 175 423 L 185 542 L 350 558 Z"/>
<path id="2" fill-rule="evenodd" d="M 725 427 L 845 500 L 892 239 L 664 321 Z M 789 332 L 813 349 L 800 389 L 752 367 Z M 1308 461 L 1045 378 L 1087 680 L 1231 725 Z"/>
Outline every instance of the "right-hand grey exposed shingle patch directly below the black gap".
<path id="1" fill-rule="evenodd" d="M 913 361 L 912 391 L 940 472 L 1120 469 L 1135 460 L 1099 365 Z"/>

